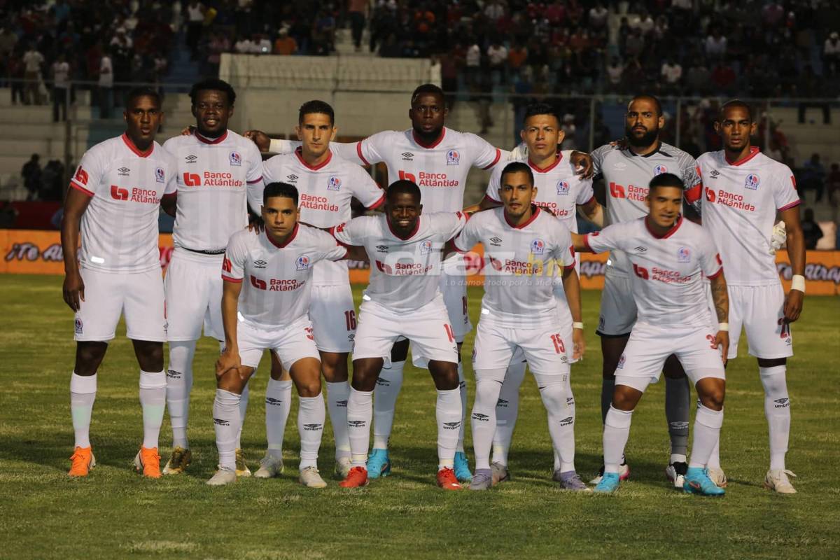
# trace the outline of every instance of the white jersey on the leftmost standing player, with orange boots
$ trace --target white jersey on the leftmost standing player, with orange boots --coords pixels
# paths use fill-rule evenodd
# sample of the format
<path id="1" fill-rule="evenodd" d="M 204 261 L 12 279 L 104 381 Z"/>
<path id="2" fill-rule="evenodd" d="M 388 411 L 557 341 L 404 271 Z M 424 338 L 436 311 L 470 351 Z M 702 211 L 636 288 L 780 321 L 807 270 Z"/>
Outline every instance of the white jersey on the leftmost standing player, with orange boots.
<path id="1" fill-rule="evenodd" d="M 105 272 L 160 268 L 160 198 L 176 191 L 176 170 L 160 144 L 141 152 L 125 134 L 88 149 L 70 181 L 92 197 L 81 216 L 79 265 Z"/>

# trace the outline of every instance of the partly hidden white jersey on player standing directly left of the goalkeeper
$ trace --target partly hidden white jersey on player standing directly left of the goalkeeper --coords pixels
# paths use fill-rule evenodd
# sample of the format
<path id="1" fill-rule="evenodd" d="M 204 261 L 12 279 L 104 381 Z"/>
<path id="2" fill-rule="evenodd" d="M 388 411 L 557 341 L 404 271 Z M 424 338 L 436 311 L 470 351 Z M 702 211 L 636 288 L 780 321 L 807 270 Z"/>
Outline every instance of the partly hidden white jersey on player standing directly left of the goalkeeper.
<path id="1" fill-rule="evenodd" d="M 577 233 L 577 205 L 586 204 L 595 197 L 592 180 L 577 175 L 575 165 L 564 158 L 562 153 L 558 153 L 554 164 L 545 169 L 538 168 L 530 160 L 525 161 L 533 171 L 533 186 L 537 187 L 537 196 L 533 203 L 551 212 L 566 228 Z M 490 182 L 487 183 L 485 196 L 500 204 L 501 172 L 508 163 L 510 162 L 506 161 L 502 165 L 496 165 L 490 175 Z"/>

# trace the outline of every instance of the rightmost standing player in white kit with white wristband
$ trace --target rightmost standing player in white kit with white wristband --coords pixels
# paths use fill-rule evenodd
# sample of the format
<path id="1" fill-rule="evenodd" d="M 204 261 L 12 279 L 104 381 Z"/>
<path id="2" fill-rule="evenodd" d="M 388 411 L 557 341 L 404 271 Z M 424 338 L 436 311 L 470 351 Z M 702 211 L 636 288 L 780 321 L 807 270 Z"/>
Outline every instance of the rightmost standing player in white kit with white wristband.
<path id="1" fill-rule="evenodd" d="M 747 332 L 749 353 L 759 361 L 764 386 L 764 414 L 769 427 L 770 468 L 764 485 L 781 494 L 794 494 L 785 468 L 790 435 L 790 395 L 785 372 L 793 355 L 790 323 L 802 311 L 805 295 L 805 242 L 799 221 L 800 199 L 793 173 L 750 144 L 756 123 L 750 107 L 740 101 L 721 107 L 715 123 L 723 149 L 697 160 L 705 196 L 703 228 L 715 240 L 727 270 L 732 345 L 729 359 L 738 356 L 738 338 Z M 793 284 L 785 295 L 776 270 L 770 236 L 776 213 L 787 230 L 787 251 Z M 720 458 L 712 454 L 710 471 L 726 484 Z"/>

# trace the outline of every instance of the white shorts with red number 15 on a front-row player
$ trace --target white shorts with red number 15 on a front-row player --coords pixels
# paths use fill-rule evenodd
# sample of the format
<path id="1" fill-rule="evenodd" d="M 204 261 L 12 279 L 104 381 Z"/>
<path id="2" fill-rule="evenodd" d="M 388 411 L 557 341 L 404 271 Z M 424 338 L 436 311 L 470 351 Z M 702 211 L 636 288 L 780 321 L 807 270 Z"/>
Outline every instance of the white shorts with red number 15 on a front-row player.
<path id="1" fill-rule="evenodd" d="M 566 353 L 570 339 L 564 339 L 558 327 L 535 329 L 498 327 L 478 322 L 473 346 L 473 369 L 507 369 L 517 350 L 534 374 L 569 375 Z"/>

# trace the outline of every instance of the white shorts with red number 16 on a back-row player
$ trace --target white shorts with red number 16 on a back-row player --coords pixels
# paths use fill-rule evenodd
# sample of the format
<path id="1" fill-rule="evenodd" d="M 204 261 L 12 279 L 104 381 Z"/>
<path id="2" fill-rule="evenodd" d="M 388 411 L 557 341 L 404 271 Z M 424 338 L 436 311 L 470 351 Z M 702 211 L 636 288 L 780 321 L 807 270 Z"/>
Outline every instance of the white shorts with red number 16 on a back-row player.
<path id="1" fill-rule="evenodd" d="M 338 285 L 312 285 L 309 319 L 321 352 L 350 352 L 356 335 L 356 309 L 349 281 Z"/>

